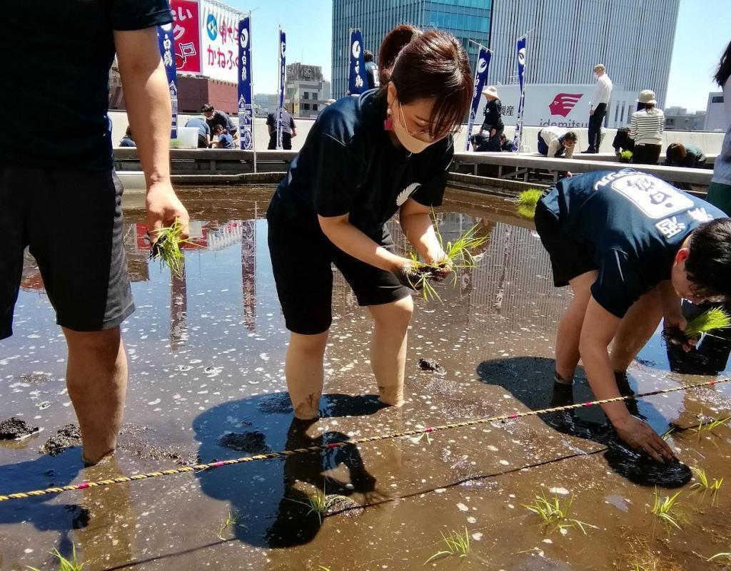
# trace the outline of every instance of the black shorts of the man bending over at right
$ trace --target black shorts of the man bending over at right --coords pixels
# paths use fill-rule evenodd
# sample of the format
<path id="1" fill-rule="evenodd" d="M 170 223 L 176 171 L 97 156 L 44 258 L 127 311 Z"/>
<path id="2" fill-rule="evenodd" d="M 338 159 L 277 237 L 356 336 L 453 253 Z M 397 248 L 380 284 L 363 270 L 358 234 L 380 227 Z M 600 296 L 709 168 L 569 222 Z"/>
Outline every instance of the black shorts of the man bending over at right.
<path id="1" fill-rule="evenodd" d="M 569 285 L 569 280 L 577 276 L 598 269 L 586 245 L 564 234 L 558 227 L 556 215 L 540 200 L 536 205 L 534 222 L 543 247 L 548 251 L 553 269 L 553 285 L 557 288 Z"/>

